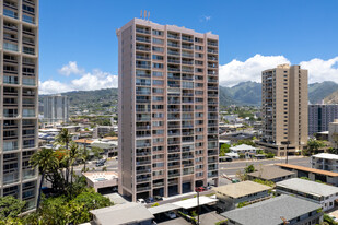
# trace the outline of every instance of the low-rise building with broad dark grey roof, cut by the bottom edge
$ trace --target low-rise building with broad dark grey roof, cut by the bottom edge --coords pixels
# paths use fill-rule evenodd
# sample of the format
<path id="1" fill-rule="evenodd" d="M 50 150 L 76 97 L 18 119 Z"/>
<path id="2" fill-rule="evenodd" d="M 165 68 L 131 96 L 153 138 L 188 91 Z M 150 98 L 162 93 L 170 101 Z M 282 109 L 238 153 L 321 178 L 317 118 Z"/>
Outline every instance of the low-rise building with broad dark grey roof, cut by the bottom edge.
<path id="1" fill-rule="evenodd" d="M 291 196 L 280 196 L 221 215 L 228 225 L 315 225 L 323 222 L 322 205 Z"/>

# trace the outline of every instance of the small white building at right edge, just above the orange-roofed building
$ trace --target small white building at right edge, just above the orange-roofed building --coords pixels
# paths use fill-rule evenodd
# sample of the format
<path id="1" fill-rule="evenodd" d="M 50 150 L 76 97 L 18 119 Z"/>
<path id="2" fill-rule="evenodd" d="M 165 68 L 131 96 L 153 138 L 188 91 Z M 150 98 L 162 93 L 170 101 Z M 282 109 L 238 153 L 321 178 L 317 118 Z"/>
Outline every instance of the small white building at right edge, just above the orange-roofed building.
<path id="1" fill-rule="evenodd" d="M 312 168 L 338 173 L 338 155 L 320 153 L 311 156 Z"/>

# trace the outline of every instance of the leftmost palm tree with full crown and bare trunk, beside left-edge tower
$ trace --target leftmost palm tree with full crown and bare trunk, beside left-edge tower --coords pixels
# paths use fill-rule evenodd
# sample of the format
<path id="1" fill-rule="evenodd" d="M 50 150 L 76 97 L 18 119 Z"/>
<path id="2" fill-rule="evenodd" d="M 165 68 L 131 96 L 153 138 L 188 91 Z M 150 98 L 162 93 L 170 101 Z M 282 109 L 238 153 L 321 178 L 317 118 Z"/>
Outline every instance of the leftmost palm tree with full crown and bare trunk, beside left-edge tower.
<path id="1" fill-rule="evenodd" d="M 36 210 L 39 208 L 42 188 L 45 179 L 45 175 L 51 169 L 58 167 L 58 159 L 55 155 L 55 152 L 51 149 L 42 149 L 34 153 L 30 159 L 30 164 L 35 168 L 38 167 L 38 173 L 42 175 L 42 180 L 38 188 L 37 205 Z"/>

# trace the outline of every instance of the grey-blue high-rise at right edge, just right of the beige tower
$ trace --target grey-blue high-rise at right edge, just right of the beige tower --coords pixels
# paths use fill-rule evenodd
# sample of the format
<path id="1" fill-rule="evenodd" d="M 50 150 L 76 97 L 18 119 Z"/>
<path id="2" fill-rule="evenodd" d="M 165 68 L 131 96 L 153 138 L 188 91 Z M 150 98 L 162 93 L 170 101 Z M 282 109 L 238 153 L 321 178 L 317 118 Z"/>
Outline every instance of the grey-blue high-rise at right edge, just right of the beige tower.
<path id="1" fill-rule="evenodd" d="M 308 135 L 328 131 L 335 119 L 338 119 L 338 105 L 308 105 Z"/>

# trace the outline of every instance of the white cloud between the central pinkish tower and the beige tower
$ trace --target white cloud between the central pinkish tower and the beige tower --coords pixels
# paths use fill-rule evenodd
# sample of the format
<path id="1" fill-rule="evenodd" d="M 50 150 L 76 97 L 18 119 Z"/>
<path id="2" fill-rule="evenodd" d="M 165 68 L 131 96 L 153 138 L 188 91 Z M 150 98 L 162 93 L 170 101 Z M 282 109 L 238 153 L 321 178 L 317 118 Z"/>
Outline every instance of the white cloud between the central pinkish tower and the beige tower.
<path id="1" fill-rule="evenodd" d="M 276 68 L 277 64 L 290 63 L 283 56 L 256 55 L 245 61 L 233 59 L 220 66 L 220 85 L 233 86 L 245 81 L 261 81 L 261 71 Z"/>

